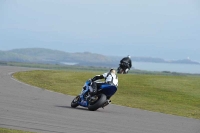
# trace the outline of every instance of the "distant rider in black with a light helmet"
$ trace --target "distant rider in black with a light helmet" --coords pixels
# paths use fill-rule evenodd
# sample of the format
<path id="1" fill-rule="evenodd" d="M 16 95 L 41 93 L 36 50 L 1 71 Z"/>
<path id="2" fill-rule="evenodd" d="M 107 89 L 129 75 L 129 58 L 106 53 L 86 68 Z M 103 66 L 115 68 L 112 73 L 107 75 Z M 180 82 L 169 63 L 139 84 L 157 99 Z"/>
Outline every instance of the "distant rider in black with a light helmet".
<path id="1" fill-rule="evenodd" d="M 121 59 L 120 67 L 125 68 L 125 73 L 127 73 L 130 70 L 130 68 L 132 67 L 132 61 L 130 55 Z"/>

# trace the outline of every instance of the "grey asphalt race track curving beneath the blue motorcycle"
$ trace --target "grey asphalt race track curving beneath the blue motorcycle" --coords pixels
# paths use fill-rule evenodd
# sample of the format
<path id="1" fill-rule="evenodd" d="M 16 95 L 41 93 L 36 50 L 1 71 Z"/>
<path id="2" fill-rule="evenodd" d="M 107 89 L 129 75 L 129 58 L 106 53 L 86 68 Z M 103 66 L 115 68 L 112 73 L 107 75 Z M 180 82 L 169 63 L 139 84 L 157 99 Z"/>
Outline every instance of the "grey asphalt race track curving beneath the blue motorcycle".
<path id="1" fill-rule="evenodd" d="M 71 108 L 74 97 L 29 86 L 0 66 L 0 127 L 38 133 L 200 133 L 200 120 L 110 104 Z M 81 91 L 81 88 L 80 88 Z"/>

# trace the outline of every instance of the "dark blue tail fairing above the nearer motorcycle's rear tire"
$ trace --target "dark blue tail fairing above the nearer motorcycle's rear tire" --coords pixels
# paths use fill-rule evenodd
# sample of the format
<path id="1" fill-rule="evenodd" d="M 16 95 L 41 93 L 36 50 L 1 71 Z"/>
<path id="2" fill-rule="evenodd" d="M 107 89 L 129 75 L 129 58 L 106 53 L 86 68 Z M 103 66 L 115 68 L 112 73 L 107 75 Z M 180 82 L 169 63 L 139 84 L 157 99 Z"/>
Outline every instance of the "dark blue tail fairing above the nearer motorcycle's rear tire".
<path id="1" fill-rule="evenodd" d="M 100 87 L 101 92 L 106 96 L 112 96 L 117 91 L 117 87 L 114 85 L 104 84 Z"/>

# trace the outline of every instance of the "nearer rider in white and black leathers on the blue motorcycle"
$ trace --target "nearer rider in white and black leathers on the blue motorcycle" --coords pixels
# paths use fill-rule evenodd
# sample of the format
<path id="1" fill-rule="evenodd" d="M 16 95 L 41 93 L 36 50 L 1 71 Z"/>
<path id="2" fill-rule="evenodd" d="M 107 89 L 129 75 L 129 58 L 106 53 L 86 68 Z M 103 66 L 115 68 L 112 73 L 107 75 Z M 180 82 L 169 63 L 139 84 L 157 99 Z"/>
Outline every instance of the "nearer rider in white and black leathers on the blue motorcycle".
<path id="1" fill-rule="evenodd" d="M 105 82 L 103 83 L 94 82 L 98 79 L 105 79 Z M 91 85 L 89 87 L 89 90 L 90 90 L 89 97 L 94 96 L 97 93 L 97 89 L 100 88 L 100 86 L 104 84 L 110 84 L 116 87 L 118 86 L 118 77 L 116 75 L 115 69 L 111 68 L 109 72 L 104 73 L 102 75 L 96 75 L 95 77 L 91 79 Z"/>

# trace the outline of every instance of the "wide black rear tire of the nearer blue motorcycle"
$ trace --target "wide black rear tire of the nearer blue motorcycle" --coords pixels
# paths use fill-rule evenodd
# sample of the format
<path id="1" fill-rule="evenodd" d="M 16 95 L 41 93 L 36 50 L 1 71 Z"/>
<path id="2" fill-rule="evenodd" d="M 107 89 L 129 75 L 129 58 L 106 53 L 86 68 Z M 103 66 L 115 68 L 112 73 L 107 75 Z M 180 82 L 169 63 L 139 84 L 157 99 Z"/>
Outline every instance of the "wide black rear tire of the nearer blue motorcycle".
<path id="1" fill-rule="evenodd" d="M 98 95 L 98 100 L 95 103 L 89 103 L 88 109 L 90 111 L 96 111 L 98 108 L 102 107 L 104 103 L 106 102 L 107 98 L 104 94 Z"/>

